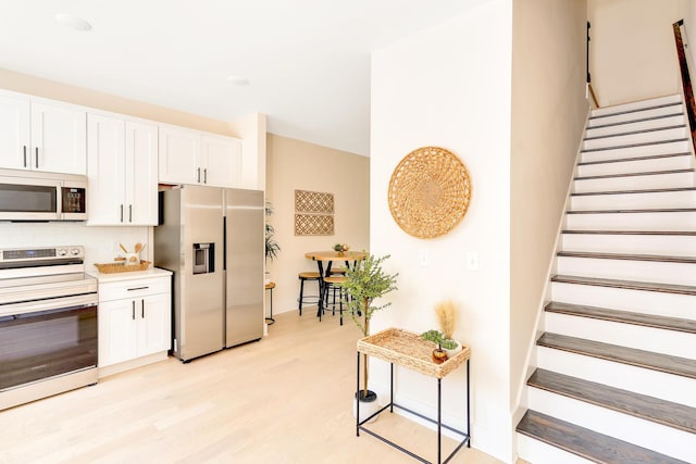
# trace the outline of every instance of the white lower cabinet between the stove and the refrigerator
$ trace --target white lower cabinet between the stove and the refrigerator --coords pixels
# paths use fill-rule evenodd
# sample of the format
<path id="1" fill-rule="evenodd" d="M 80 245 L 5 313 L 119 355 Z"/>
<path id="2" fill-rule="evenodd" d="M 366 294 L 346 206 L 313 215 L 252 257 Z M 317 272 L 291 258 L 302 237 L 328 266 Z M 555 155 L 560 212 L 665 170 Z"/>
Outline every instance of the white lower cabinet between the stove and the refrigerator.
<path id="1" fill-rule="evenodd" d="M 100 279 L 100 368 L 158 353 L 166 356 L 172 336 L 170 284 L 169 274 L 108 283 Z"/>

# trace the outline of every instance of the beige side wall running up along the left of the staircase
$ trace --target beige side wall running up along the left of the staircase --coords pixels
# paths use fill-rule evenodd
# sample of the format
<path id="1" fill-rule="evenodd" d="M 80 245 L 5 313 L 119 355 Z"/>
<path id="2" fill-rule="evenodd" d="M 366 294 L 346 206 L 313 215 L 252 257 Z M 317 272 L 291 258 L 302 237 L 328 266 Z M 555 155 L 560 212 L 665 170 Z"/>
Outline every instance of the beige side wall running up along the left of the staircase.
<path id="1" fill-rule="evenodd" d="M 511 127 L 510 372 L 524 388 L 544 288 L 580 147 L 586 0 L 514 0 Z M 519 417 L 523 411 L 518 411 Z"/>

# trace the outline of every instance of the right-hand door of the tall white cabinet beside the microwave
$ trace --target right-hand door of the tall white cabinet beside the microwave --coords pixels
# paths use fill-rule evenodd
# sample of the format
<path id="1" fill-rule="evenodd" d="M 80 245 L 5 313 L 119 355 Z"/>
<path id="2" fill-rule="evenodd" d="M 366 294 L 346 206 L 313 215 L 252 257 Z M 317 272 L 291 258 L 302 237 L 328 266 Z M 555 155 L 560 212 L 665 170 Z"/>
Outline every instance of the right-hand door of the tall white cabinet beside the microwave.
<path id="1" fill-rule="evenodd" d="M 157 225 L 157 124 L 126 122 L 125 200 L 129 225 Z"/>

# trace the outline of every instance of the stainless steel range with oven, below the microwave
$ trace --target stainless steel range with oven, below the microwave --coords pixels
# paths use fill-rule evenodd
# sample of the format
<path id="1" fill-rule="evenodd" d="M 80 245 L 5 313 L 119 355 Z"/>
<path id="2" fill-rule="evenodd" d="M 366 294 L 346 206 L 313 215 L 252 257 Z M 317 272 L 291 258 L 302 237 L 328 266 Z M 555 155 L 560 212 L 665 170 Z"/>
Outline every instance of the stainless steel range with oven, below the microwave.
<path id="1" fill-rule="evenodd" d="M 0 250 L 0 410 L 97 383 L 83 247 Z"/>

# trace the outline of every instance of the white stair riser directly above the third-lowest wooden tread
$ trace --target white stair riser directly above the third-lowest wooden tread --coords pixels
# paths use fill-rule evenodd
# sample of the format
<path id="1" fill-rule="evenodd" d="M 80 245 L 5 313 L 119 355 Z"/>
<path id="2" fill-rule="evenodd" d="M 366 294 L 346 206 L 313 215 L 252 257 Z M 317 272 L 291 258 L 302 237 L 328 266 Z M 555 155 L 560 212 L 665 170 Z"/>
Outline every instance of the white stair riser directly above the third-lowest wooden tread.
<path id="1" fill-rule="evenodd" d="M 696 334 L 546 312 L 546 330 L 679 358 L 694 358 Z M 696 386 L 696 381 L 694 383 Z"/>

